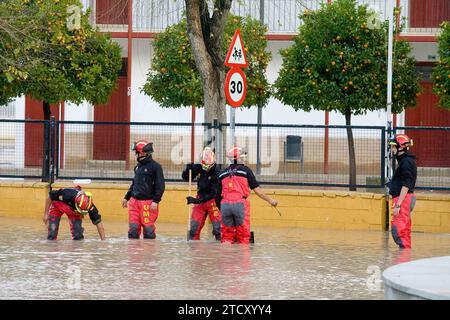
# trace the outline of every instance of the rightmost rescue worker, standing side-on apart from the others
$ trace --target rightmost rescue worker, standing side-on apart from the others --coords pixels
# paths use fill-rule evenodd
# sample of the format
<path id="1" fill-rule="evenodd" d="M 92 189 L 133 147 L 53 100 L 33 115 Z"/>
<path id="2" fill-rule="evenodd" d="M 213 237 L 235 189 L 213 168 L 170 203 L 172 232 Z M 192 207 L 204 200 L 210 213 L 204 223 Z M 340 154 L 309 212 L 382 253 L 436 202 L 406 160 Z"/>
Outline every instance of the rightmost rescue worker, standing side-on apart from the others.
<path id="1" fill-rule="evenodd" d="M 397 134 L 389 144 L 397 160 L 389 190 L 393 217 L 391 233 L 400 248 L 411 248 L 411 214 L 416 204 L 414 188 L 417 179 L 416 157 L 409 152 L 413 141 L 406 134 Z"/>

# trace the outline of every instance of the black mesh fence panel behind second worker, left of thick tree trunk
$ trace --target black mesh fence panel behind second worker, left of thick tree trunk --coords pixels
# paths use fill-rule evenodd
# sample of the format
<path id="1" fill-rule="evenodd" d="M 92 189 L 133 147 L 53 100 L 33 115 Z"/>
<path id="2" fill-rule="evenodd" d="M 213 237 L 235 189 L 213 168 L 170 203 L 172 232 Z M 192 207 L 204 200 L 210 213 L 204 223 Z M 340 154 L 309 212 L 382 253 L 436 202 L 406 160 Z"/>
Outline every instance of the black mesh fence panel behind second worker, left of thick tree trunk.
<path id="1" fill-rule="evenodd" d="M 139 139 L 153 142 L 154 158 L 168 181 L 180 181 L 182 168 L 191 161 L 191 123 L 60 121 L 57 127 L 59 179 L 130 180 L 137 163 L 131 146 Z M 195 125 L 198 152 L 203 129 Z"/>

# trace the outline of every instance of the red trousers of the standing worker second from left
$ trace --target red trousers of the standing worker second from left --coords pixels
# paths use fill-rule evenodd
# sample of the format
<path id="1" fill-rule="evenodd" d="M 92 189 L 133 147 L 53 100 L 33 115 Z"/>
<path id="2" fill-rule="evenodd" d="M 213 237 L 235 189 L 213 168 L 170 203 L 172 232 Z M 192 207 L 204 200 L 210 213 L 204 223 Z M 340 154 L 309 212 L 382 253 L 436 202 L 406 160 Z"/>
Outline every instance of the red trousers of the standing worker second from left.
<path id="1" fill-rule="evenodd" d="M 128 202 L 128 238 L 139 239 L 143 230 L 144 239 L 156 238 L 155 221 L 158 219 L 158 208 L 150 210 L 153 200 L 137 200 L 131 197 Z"/>

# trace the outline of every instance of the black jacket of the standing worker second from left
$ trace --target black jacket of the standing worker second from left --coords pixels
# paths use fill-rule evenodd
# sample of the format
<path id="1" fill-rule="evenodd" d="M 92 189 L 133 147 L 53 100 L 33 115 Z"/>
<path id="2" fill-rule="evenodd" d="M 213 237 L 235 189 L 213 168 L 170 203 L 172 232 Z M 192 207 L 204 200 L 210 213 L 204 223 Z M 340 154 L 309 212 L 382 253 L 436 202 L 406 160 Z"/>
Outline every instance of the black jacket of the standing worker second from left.
<path id="1" fill-rule="evenodd" d="M 125 199 L 161 201 L 165 189 L 164 174 L 161 165 L 152 158 L 139 161 L 134 167 L 134 179 Z"/>

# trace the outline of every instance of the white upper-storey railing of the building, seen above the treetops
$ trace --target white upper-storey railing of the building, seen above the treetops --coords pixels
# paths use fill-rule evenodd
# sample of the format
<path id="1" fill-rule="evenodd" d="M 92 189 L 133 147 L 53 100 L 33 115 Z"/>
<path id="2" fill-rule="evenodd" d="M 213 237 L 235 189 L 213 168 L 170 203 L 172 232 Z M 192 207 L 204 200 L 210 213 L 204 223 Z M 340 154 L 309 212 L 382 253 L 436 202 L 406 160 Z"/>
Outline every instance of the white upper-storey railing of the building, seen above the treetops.
<path id="1" fill-rule="evenodd" d="M 305 10 L 317 10 L 327 0 L 242 0 L 233 1 L 231 12 L 251 16 L 268 27 L 268 34 L 295 34 L 301 24 L 299 16 Z M 93 10 L 92 22 L 105 32 L 127 30 L 127 1 L 82 0 L 83 7 Z M 387 20 L 388 0 L 358 0 L 378 13 L 380 20 Z M 395 2 L 397 5 L 397 1 Z M 441 22 L 450 17 L 447 0 L 400 0 L 401 18 L 405 22 L 405 34 L 436 35 Z M 178 23 L 185 11 L 183 0 L 134 0 L 133 31 L 161 32 Z"/>

